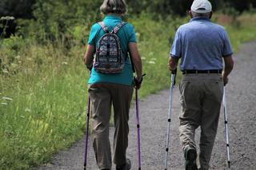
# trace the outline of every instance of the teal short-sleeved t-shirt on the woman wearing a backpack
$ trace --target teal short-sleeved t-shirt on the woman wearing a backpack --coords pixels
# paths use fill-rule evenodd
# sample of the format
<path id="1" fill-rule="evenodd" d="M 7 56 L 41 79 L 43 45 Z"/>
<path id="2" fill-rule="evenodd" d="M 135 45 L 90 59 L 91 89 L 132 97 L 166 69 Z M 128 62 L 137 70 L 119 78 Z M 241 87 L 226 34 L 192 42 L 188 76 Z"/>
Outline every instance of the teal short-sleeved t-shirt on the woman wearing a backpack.
<path id="1" fill-rule="evenodd" d="M 114 26 L 116 26 L 119 22 L 122 22 L 122 18 L 114 15 L 107 15 L 103 20 L 105 26 L 108 27 L 108 30 L 113 30 Z M 104 35 L 105 32 L 102 30 L 102 27 L 98 25 L 98 23 L 94 24 L 90 30 L 90 36 L 88 40 L 88 44 L 94 45 L 94 49 L 96 49 L 96 45 L 99 39 Z M 98 73 L 94 70 L 94 67 L 91 69 L 90 79 L 88 81 L 89 84 L 106 82 L 106 83 L 117 83 L 122 85 L 132 85 L 133 81 L 133 70 L 130 63 L 130 59 L 128 57 L 128 43 L 129 42 L 137 42 L 134 27 L 129 23 L 122 26 L 120 30 L 118 30 L 118 38 L 122 47 L 122 52 L 126 56 L 126 63 L 122 73 L 116 74 L 106 74 L 106 73 Z M 94 51 L 95 53 L 95 51 Z"/>

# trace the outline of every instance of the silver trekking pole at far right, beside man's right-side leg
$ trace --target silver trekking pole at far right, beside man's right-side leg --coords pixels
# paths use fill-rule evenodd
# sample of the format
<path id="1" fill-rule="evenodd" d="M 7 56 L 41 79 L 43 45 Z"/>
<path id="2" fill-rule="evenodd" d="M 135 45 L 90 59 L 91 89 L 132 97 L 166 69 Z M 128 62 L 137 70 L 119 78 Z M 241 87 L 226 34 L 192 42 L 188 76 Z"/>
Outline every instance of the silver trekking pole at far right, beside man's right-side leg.
<path id="1" fill-rule="evenodd" d="M 229 142 L 229 133 L 227 127 L 227 113 L 226 113 L 226 91 L 225 86 L 223 88 L 223 108 L 224 108 L 224 123 L 225 123 L 225 131 L 226 131 L 226 154 L 227 154 L 227 164 L 230 168 L 230 142 Z"/>

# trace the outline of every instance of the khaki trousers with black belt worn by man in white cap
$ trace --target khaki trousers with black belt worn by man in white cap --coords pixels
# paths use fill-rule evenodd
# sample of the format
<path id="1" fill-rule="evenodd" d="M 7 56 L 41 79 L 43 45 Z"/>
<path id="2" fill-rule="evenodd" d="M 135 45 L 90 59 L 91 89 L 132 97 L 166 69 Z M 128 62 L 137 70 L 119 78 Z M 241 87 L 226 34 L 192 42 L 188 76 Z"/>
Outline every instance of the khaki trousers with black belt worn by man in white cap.
<path id="1" fill-rule="evenodd" d="M 194 133 L 200 126 L 200 169 L 209 169 L 222 104 L 222 75 L 218 73 L 184 74 L 179 88 L 182 105 L 179 116 L 182 148 L 184 149 L 188 144 L 196 148 Z"/>

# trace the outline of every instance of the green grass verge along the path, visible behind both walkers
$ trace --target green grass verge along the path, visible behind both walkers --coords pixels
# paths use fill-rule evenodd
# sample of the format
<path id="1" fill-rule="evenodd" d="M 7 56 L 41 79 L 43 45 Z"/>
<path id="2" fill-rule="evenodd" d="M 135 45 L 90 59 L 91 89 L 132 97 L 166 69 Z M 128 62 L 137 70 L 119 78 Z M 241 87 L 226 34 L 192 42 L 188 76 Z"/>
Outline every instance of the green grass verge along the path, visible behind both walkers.
<path id="1" fill-rule="evenodd" d="M 174 31 L 189 18 L 153 22 L 146 14 L 131 18 L 146 77 L 140 97 L 170 84 L 167 60 Z M 256 38 L 256 14 L 244 14 L 226 26 L 235 51 Z M 86 124 L 83 48 L 62 43 L 38 45 L 13 37 L 1 42 L 0 169 L 29 169 L 78 140 Z"/>

